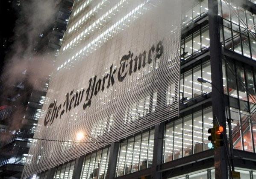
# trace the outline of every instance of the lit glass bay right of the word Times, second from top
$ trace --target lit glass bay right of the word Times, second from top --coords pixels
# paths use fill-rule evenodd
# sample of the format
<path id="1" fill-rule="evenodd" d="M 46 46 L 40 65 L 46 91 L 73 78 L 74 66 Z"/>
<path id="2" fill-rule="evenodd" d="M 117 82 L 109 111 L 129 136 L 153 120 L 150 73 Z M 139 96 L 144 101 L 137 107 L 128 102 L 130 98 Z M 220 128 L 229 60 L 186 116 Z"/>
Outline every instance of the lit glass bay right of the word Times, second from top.
<path id="1" fill-rule="evenodd" d="M 208 49 L 210 46 L 209 27 L 204 26 L 181 40 L 181 61 Z"/>

